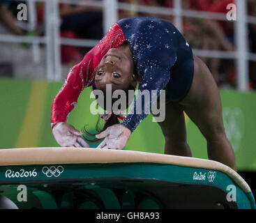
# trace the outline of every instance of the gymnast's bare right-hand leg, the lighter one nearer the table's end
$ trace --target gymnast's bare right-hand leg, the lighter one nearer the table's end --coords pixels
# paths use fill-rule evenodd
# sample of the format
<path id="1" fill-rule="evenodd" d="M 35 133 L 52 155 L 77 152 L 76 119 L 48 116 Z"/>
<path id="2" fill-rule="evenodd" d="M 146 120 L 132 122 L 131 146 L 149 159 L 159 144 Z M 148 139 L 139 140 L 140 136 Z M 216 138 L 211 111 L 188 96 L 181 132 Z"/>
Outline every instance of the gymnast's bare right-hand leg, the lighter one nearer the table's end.
<path id="1" fill-rule="evenodd" d="M 216 160 L 236 170 L 232 145 L 225 134 L 218 86 L 210 70 L 195 56 L 193 83 L 183 105 L 188 117 L 197 125 L 207 141 L 210 160 Z"/>

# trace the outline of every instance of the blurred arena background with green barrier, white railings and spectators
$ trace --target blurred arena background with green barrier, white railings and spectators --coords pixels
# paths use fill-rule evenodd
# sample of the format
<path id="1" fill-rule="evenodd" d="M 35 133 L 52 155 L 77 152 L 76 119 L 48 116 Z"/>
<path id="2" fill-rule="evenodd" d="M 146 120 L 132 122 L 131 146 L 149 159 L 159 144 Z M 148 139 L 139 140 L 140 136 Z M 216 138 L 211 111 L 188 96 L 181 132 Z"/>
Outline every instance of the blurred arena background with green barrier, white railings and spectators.
<path id="1" fill-rule="evenodd" d="M 18 20 L 20 3 L 27 6 L 27 20 Z M 229 3 L 236 6 L 232 14 L 237 14 L 236 20 L 227 20 Z M 255 1 L 54 0 L 0 4 L 0 148 L 59 146 L 50 128 L 50 113 L 68 70 L 116 20 L 162 17 L 177 26 L 213 73 L 237 169 L 255 194 Z M 82 92 L 68 116 L 68 123 L 78 130 L 86 125 L 93 131 L 98 119 L 89 110 L 90 92 L 90 88 Z M 163 135 L 151 118 L 147 116 L 139 125 L 125 149 L 163 153 Z M 206 141 L 187 117 L 186 127 L 193 157 L 207 158 Z"/>

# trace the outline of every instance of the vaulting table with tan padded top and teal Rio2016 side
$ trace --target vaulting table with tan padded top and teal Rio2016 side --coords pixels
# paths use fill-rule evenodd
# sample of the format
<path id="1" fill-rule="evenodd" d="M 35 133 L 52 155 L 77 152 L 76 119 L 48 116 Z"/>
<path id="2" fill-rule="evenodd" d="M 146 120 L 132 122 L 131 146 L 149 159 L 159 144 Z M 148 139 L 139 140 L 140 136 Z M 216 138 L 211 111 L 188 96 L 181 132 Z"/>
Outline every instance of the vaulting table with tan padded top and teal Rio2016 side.
<path id="1" fill-rule="evenodd" d="M 0 149 L 0 208 L 255 208 L 212 160 L 96 148 Z"/>

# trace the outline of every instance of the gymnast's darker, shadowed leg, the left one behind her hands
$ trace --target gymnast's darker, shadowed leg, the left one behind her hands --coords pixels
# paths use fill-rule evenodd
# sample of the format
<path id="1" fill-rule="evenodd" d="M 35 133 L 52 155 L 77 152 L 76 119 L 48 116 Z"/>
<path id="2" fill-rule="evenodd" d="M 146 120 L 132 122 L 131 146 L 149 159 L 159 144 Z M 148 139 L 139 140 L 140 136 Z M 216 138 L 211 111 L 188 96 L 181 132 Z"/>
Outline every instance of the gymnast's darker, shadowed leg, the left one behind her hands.
<path id="1" fill-rule="evenodd" d="M 165 137 L 165 154 L 191 156 L 186 141 L 186 125 L 181 105 L 168 102 L 165 105 L 165 121 L 158 124 Z"/>

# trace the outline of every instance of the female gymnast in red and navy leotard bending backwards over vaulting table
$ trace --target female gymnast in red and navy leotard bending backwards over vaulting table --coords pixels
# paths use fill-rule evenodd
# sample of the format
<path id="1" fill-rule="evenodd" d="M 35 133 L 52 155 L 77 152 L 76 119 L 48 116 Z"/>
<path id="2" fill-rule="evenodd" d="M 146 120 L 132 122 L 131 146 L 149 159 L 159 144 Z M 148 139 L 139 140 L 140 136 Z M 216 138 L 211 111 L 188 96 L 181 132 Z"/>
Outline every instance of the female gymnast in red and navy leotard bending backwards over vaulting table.
<path id="1" fill-rule="evenodd" d="M 135 89 L 137 83 L 140 91 L 158 90 L 158 98 L 159 91 L 165 90 L 166 116 L 163 122 L 158 122 L 165 137 L 165 154 L 191 156 L 186 141 L 183 114 L 186 112 L 207 141 L 209 159 L 236 170 L 234 151 L 223 125 L 218 87 L 209 68 L 193 56 L 189 44 L 173 24 L 152 17 L 119 20 L 70 69 L 52 103 L 52 132 L 59 145 L 89 147 L 81 137 L 84 132 L 66 123 L 85 87 L 105 91 L 106 85 L 111 84 L 112 89 L 128 90 Z M 96 134 L 98 139 L 105 138 L 98 148 L 122 149 L 146 117 L 146 106 L 155 105 L 152 100 L 144 102 L 142 114 L 128 112 L 121 123 L 109 124 Z"/>

